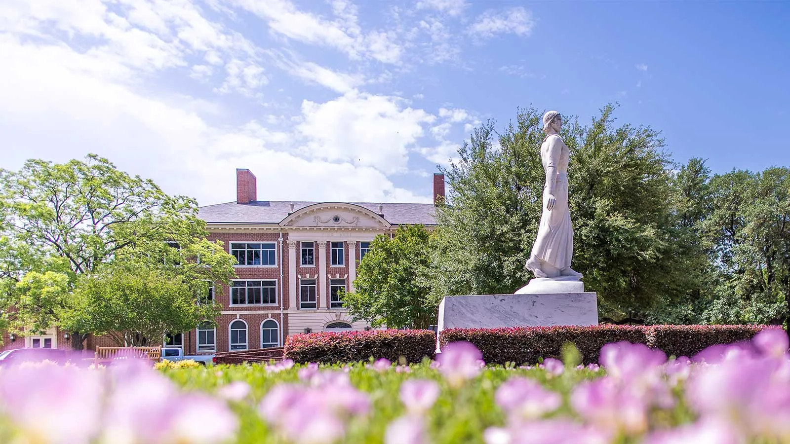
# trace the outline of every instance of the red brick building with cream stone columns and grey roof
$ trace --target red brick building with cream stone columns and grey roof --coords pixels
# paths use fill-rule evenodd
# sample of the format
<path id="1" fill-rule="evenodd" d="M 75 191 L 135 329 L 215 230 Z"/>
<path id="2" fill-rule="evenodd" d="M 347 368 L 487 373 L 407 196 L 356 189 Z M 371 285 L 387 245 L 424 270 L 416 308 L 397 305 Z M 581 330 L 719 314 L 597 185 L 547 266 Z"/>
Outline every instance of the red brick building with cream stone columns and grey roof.
<path id="1" fill-rule="evenodd" d="M 256 179 L 236 170 L 236 200 L 200 208 L 209 239 L 233 254 L 236 279 L 211 292 L 222 306 L 216 326 L 205 324 L 168 337 L 168 345 L 189 355 L 282 346 L 306 331 L 364 329 L 352 322 L 337 290 L 353 291 L 356 267 L 376 235 L 402 224 L 436 225 L 435 203 L 444 198 L 444 175 L 434 175 L 434 203 L 259 201 Z M 12 341 L 2 350 L 23 347 L 71 348 L 68 334 L 53 329 L 40 337 Z M 87 351 L 115 345 L 88 337 Z"/>

